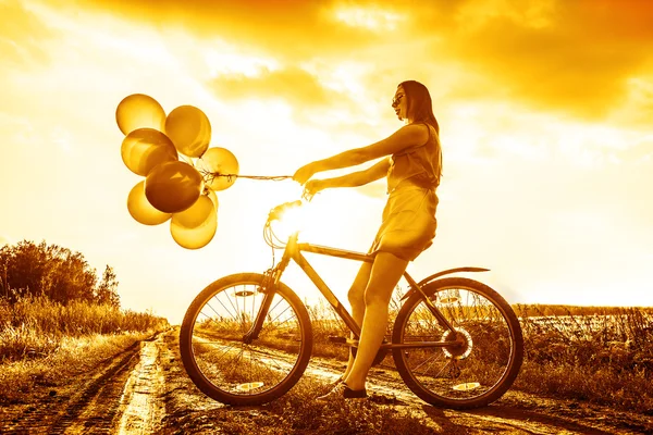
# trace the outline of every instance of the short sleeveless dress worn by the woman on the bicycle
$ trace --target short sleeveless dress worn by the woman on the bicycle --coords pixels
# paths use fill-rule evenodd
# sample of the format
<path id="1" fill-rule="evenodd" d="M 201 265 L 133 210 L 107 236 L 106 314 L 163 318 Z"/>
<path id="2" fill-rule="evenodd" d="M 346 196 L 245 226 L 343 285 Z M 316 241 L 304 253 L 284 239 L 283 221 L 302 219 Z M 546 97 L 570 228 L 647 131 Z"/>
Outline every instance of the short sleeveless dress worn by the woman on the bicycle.
<path id="1" fill-rule="evenodd" d="M 415 260 L 433 244 L 440 184 L 441 151 L 435 129 L 429 127 L 426 144 L 407 148 L 391 158 L 387 202 L 370 253 L 390 252 Z"/>

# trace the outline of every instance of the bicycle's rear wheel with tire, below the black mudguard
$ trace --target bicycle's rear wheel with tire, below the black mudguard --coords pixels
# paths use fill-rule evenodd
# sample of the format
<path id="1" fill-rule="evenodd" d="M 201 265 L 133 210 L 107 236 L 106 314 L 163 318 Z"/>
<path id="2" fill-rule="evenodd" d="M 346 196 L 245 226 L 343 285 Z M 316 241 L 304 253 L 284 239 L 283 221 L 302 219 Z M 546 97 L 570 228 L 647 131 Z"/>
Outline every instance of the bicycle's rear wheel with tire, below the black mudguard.
<path id="1" fill-rule="evenodd" d="M 440 324 L 421 295 L 408 298 L 395 320 L 393 343 L 452 345 L 393 349 L 406 385 L 428 403 L 454 409 L 498 399 L 513 385 L 523 359 L 521 327 L 510 306 L 486 285 L 463 277 L 438 279 L 422 290 L 456 334 Z"/>

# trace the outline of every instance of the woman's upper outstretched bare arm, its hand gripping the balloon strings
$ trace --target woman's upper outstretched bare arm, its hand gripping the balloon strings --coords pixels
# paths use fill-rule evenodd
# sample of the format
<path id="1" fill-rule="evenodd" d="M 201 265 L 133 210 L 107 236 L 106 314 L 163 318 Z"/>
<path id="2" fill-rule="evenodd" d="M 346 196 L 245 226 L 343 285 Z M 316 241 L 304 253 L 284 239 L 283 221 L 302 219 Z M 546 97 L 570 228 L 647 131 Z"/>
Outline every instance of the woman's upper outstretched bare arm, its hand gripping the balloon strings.
<path id="1" fill-rule="evenodd" d="M 383 156 L 393 154 L 415 145 L 421 145 L 427 141 L 427 138 L 428 127 L 424 125 L 405 125 L 385 139 L 368 145 L 367 147 L 347 150 L 328 159 L 318 160 L 301 166 L 295 172 L 293 179 L 304 184 L 318 172 L 355 166 Z"/>

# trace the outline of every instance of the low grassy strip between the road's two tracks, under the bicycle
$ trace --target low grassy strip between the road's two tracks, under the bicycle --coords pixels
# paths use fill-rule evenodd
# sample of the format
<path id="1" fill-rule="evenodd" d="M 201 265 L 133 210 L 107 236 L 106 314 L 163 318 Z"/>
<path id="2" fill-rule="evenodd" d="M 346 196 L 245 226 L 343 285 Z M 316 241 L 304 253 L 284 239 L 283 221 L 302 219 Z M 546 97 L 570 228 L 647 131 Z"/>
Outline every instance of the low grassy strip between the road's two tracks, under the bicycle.
<path id="1" fill-rule="evenodd" d="M 178 343 L 170 337 L 169 345 L 178 360 Z M 172 384 L 173 391 L 167 407 L 165 427 L 170 434 L 224 433 L 224 434 L 467 434 L 466 427 L 458 427 L 442 414 L 424 405 L 421 409 L 379 403 L 370 400 L 334 399 L 322 403 L 316 397 L 326 393 L 328 386 L 322 378 L 303 376 L 285 395 L 269 403 L 255 407 L 204 408 L 189 402 L 185 395 L 175 393 L 185 390 L 181 385 L 197 388 L 184 378 L 183 369 L 180 384 Z M 180 398 L 181 397 L 181 398 Z"/>

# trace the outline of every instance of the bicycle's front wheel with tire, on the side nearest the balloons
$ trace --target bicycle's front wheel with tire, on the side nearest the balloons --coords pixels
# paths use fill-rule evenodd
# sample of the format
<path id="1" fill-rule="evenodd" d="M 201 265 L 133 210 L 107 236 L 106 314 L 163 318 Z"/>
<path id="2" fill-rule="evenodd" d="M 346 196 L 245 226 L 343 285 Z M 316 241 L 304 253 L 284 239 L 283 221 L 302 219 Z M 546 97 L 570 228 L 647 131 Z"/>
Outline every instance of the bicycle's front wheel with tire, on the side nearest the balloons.
<path id="1" fill-rule="evenodd" d="M 260 333 L 245 335 L 262 307 L 263 275 L 242 273 L 210 284 L 190 303 L 180 332 L 188 376 L 229 405 L 260 405 L 291 389 L 306 370 L 312 330 L 301 300 L 279 283 Z"/>

